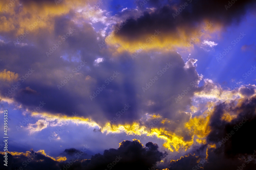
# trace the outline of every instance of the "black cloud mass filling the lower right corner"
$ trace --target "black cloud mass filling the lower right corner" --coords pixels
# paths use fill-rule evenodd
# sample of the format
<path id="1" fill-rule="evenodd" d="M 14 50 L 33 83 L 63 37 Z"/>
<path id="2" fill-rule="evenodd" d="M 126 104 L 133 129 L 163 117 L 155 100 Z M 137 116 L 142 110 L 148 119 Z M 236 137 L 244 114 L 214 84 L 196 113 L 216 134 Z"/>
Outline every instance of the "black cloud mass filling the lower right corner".
<path id="1" fill-rule="evenodd" d="M 190 151 L 191 154 L 195 153 L 206 160 L 202 163 L 205 170 L 235 170 L 238 167 L 246 170 L 255 169 L 253 159 L 256 155 L 256 97 L 243 99 L 240 104 L 236 104 L 236 101 L 231 101 L 215 106 L 209 122 L 211 132 L 207 137 L 207 144 L 215 143 L 216 148 L 207 149 L 207 159 L 201 152 L 207 145 Z M 238 116 L 229 122 L 222 119 L 224 113 Z M 199 157 L 190 153 L 177 161 L 171 161 L 169 169 L 198 169 L 195 165 L 198 165 Z"/>

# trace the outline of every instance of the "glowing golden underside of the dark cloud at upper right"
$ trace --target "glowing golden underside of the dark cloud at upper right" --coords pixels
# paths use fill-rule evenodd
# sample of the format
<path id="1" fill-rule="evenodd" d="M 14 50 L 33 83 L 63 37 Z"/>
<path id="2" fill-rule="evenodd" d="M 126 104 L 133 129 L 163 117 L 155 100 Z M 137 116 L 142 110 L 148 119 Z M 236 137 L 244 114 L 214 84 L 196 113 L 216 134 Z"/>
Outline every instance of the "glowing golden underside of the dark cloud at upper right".
<path id="1" fill-rule="evenodd" d="M 129 21 L 127 21 L 128 23 Z M 125 23 L 120 23 L 120 25 Z M 136 33 L 136 38 L 130 38 L 119 34 L 119 26 L 105 38 L 109 46 L 118 47 L 117 51 L 129 51 L 136 56 L 136 53 L 151 50 L 175 50 L 177 48 L 193 49 L 195 44 L 202 43 L 205 39 L 211 38 L 213 33 L 222 29 L 221 24 L 203 21 L 198 27 L 188 29 L 186 25 L 179 26 L 175 30 L 155 29 L 151 33 Z M 156 27 L 157 28 L 157 27 Z M 206 31 L 204 31 L 204 29 Z M 131 33 L 132 34 L 132 33 Z M 135 54 L 134 54 L 135 53 Z"/>

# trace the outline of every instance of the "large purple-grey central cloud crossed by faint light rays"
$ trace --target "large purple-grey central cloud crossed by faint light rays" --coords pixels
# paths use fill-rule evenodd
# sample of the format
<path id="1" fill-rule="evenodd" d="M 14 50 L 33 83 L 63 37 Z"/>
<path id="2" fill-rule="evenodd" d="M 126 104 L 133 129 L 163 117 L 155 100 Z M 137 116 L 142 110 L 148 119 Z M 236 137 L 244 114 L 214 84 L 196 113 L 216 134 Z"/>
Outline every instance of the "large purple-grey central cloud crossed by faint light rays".
<path id="1" fill-rule="evenodd" d="M 189 60 L 186 65 L 182 57 L 173 52 L 151 55 L 142 52 L 135 60 L 127 53 L 112 58 L 109 51 L 104 54 L 99 51 L 98 43 L 102 40 L 97 40 L 99 34 L 90 24 L 77 27 L 67 18 L 56 17 L 56 31 L 52 33 L 42 29 L 36 38 L 27 37 L 35 46 L 15 47 L 7 43 L 0 47 L 4 56 L 9 58 L 0 64 L 4 63 L 7 70 L 18 73 L 18 78 L 27 74 L 28 69 L 35 70 L 26 80 L 18 80 L 21 85 L 11 95 L 15 101 L 32 110 L 39 102 L 44 101 L 47 104 L 40 111 L 67 115 L 76 111 L 79 116 L 91 117 L 102 124 L 117 117 L 116 113 L 121 111 L 125 104 L 131 107 L 116 123 L 138 120 L 146 112 L 157 112 L 175 121 L 184 119 L 184 116 L 170 112 L 185 110 L 191 103 L 190 97 L 196 88 L 190 90 L 178 103 L 175 98 L 190 86 L 190 82 L 200 79 L 193 65 L 195 60 Z M 69 32 L 70 28 L 74 29 L 74 32 L 63 41 L 61 36 Z M 46 52 L 58 41 L 62 44 L 47 57 Z M 104 58 L 104 61 L 95 66 L 94 60 L 97 58 Z M 81 61 L 87 63 L 78 72 L 74 71 Z M 163 73 L 163 69 L 166 72 Z M 118 76 L 109 84 L 106 83 L 114 72 L 118 72 Z M 70 74 L 73 77 L 59 90 L 57 85 Z M 155 76 L 158 76 L 158 80 L 149 89 L 144 90 L 144 93 L 142 87 L 146 88 L 146 84 Z M 3 83 L 0 90 L 4 96 L 13 84 Z M 91 100 L 89 96 L 102 85 L 106 88 Z M 29 87 L 29 90 L 26 90 L 26 87 Z M 36 93 L 30 93 L 32 91 Z"/>

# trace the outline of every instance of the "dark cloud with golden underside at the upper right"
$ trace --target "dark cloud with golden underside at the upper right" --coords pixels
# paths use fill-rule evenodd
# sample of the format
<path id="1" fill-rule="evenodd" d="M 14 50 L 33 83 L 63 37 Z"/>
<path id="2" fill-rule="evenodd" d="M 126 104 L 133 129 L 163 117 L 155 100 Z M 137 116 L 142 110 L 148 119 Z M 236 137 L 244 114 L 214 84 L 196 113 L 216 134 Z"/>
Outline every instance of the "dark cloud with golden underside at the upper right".
<path id="1" fill-rule="evenodd" d="M 180 7 L 182 5 L 184 9 Z M 152 37 L 154 40 L 147 44 L 147 50 L 190 47 L 191 44 L 193 46 L 199 43 L 203 36 L 211 37 L 211 33 L 225 29 L 232 22 L 239 22 L 248 9 L 253 9 L 251 7 L 255 6 L 255 3 L 250 0 L 236 2 L 228 11 L 225 5 L 228 5 L 228 2 L 208 3 L 203 0 L 169 1 L 160 6 L 151 4 L 152 7 L 157 7 L 154 11 L 146 11 L 136 18 L 129 17 L 126 24 L 116 24 L 113 30 L 121 29 L 113 31 L 114 36 L 108 44 L 120 45 L 119 50 L 134 53 L 143 47 L 143 44 L 147 44 L 147 41 L 150 42 Z M 178 9 L 181 9 L 181 12 Z M 202 29 L 206 31 L 202 32 Z M 156 30 L 161 33 L 154 37 Z"/>

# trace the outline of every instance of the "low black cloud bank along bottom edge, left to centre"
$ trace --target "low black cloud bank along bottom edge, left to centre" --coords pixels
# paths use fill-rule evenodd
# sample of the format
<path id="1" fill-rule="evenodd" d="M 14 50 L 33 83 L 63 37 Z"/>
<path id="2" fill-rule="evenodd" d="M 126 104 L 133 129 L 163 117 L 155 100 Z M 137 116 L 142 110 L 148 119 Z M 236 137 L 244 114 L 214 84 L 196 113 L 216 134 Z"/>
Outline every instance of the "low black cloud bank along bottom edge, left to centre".
<path id="1" fill-rule="evenodd" d="M 76 152 L 74 148 L 66 149 L 65 152 Z M 34 151 L 30 151 L 33 155 Z M 158 145 L 152 142 L 146 143 L 143 146 L 140 142 L 136 141 L 122 141 L 118 149 L 105 150 L 103 154 L 95 154 L 89 160 L 67 160 L 65 162 L 57 162 L 52 158 L 47 157 L 39 152 L 35 153 L 32 162 L 26 164 L 26 169 L 62 169 L 68 167 L 68 169 L 140 169 L 147 170 L 154 164 L 161 161 L 166 156 L 166 152 L 158 150 Z M 31 156 L 12 156 L 8 154 L 9 167 L 19 168 L 24 167 L 22 163 L 27 161 Z M 1 161 L 3 161 L 3 155 L 1 155 Z M 40 160 L 40 161 L 39 161 Z M 23 163 L 25 164 L 25 163 Z M 67 165 L 71 166 L 67 166 Z M 152 165 L 153 164 L 153 165 Z M 2 165 L 1 165 L 2 166 Z M 36 167 L 37 166 L 37 167 Z"/>

